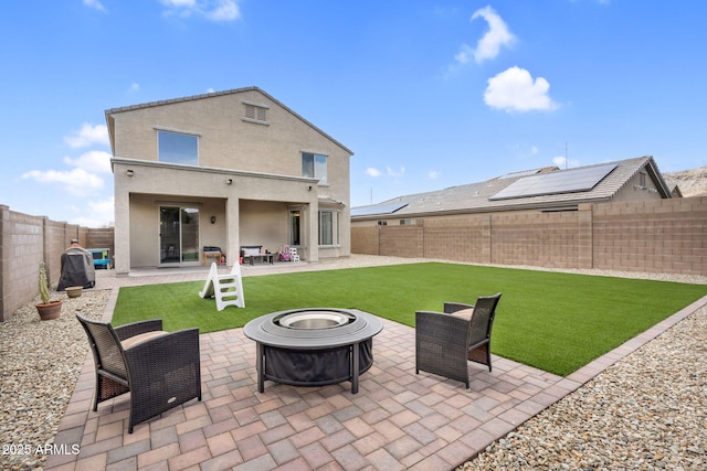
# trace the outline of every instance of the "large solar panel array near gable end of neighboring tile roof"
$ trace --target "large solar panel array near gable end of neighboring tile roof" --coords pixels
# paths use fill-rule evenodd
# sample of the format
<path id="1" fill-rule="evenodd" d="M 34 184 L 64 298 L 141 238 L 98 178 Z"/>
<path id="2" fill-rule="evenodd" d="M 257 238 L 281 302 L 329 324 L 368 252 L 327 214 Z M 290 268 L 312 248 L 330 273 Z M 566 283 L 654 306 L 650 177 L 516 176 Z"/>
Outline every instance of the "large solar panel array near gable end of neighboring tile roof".
<path id="1" fill-rule="evenodd" d="M 611 163 L 524 176 L 490 196 L 489 200 L 510 200 L 514 197 L 590 191 L 615 168 L 616 164 Z"/>

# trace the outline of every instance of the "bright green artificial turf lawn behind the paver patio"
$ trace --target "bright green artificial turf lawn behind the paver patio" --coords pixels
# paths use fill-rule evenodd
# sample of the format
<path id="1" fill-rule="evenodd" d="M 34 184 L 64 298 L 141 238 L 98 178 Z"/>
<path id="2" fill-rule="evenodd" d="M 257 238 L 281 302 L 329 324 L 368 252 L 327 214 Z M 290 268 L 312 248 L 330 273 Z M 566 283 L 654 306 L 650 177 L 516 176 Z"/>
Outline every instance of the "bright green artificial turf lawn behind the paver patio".
<path id="1" fill-rule="evenodd" d="M 165 330 L 205 333 L 320 307 L 414 327 L 415 310 L 441 311 L 444 301 L 474 303 L 500 291 L 493 352 L 564 376 L 707 295 L 703 285 L 444 263 L 246 277 L 245 308 L 221 312 L 213 299 L 199 297 L 202 288 L 203 281 L 122 288 L 113 322 L 161 318 Z"/>

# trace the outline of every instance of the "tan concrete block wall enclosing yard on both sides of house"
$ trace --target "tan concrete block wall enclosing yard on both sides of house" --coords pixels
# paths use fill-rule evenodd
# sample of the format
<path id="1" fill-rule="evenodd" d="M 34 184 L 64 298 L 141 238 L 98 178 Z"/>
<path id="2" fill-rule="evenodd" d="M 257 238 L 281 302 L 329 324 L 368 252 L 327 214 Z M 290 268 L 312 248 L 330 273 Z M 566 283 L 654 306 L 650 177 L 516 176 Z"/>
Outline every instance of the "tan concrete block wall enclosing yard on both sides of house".
<path id="1" fill-rule="evenodd" d="M 351 227 L 354 254 L 546 268 L 595 268 L 707 276 L 707 197 L 582 204 L 574 212 L 428 216 L 414 225 Z M 374 224 L 374 223 L 373 223 Z M 77 238 L 115 254 L 113 228 L 87 228 L 0 205 L 0 320 L 50 285 L 61 254 Z M 99 288 L 99 287 L 98 287 Z"/>

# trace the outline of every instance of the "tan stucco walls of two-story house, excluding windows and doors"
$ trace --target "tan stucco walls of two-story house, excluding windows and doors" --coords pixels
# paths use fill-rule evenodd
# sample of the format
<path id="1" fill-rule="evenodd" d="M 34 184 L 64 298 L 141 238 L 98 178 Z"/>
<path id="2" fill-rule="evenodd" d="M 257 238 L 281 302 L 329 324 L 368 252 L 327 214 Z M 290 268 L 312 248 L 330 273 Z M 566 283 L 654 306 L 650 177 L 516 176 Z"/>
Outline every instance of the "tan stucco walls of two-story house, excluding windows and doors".
<path id="1" fill-rule="evenodd" d="M 243 119 L 244 103 L 266 107 L 266 124 Z M 118 272 L 129 271 L 130 266 L 155 265 L 158 236 L 152 227 L 157 226 L 158 213 L 154 201 L 159 200 L 198 201 L 204 205 L 210 200 L 220 202 L 221 207 L 217 204 L 212 210 L 215 227 L 209 227 L 212 214 L 202 211 L 200 245 L 221 246 L 229 255 L 229 264 L 235 260 L 231 254 L 235 256 L 240 245 L 250 244 L 241 243 L 242 237 L 262 239 L 256 244 L 267 245 L 271 250 L 285 244 L 287 211 L 294 205 L 306 210 L 306 246 L 300 250 L 309 261 L 317 261 L 320 256 L 350 255 L 351 152 L 266 94 L 244 89 L 113 110 L 108 124 L 115 156 Z M 199 136 L 199 165 L 158 162 L 158 130 Z M 326 185 L 302 176 L 303 152 L 327 156 Z M 128 169 L 133 176 L 127 175 Z M 226 184 L 228 179 L 232 184 Z M 320 253 L 316 246 L 319 199 L 340 202 L 336 205 L 340 212 L 340 243 L 323 247 Z M 257 204 L 263 213 L 251 211 Z M 250 232 L 251 226 L 262 227 L 263 234 Z M 123 255 L 128 253 L 129 257 Z"/>

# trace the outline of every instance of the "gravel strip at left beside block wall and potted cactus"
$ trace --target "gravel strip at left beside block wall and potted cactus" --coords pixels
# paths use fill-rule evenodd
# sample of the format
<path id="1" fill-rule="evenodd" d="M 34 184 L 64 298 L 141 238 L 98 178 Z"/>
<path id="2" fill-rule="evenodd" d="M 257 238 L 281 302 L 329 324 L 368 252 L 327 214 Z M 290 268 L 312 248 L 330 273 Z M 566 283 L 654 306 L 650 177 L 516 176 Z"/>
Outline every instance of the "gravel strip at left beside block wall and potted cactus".
<path id="1" fill-rule="evenodd" d="M 62 299 L 59 319 L 42 321 L 34 302 L 0 324 L 0 469 L 42 465 L 88 354 L 86 334 L 74 317 L 101 319 L 110 290 L 84 290 Z"/>

